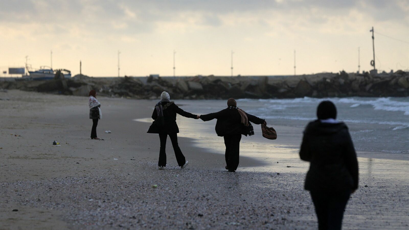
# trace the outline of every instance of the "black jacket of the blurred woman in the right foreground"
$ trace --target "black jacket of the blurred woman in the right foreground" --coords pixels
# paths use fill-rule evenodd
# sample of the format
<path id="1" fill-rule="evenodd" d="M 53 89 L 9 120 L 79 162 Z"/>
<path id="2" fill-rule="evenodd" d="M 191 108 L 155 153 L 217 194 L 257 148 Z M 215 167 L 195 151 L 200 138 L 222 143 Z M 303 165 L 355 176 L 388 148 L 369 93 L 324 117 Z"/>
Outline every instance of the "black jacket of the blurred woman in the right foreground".
<path id="1" fill-rule="evenodd" d="M 357 189 L 357 156 L 348 127 L 343 122 L 310 122 L 304 131 L 300 158 L 311 162 L 306 190 L 344 192 Z"/>

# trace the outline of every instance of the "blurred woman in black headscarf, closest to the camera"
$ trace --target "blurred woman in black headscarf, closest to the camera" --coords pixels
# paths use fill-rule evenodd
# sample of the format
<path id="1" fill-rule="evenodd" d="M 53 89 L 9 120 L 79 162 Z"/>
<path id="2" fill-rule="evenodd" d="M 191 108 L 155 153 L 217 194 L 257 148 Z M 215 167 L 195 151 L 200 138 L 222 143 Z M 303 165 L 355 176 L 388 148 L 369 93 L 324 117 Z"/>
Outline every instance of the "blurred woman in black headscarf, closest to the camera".
<path id="1" fill-rule="evenodd" d="M 311 163 L 305 189 L 310 191 L 319 230 L 337 230 L 349 196 L 358 187 L 358 161 L 348 127 L 335 120 L 335 105 L 322 101 L 317 117 L 307 125 L 300 149 L 301 160 Z"/>

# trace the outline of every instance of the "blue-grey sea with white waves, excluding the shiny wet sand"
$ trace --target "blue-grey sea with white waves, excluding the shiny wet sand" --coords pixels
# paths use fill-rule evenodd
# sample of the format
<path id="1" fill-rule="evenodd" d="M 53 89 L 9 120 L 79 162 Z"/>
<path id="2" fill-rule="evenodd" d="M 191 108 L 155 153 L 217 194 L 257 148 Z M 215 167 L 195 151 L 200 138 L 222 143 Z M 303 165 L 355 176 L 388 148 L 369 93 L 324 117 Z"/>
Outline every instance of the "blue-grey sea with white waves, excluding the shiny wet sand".
<path id="1" fill-rule="evenodd" d="M 408 97 L 238 99 L 237 106 L 249 114 L 265 119 L 267 126 L 276 129 L 277 141 L 281 135 L 299 131 L 293 133 L 294 138 L 300 138 L 298 141 L 287 136 L 287 140 L 282 142 L 288 147 L 299 147 L 303 129 L 308 122 L 317 119 L 317 106 L 323 100 L 333 101 L 337 107 L 337 120 L 348 126 L 357 151 L 409 154 Z M 182 104 L 184 110 L 197 114 L 214 113 L 227 107 L 225 100 L 182 100 L 177 103 Z M 198 126 L 192 121 L 189 124 Z M 214 126 L 208 126 L 210 130 L 206 132 L 212 131 L 215 135 Z M 288 130 L 280 130 L 280 127 Z M 254 125 L 255 131 L 259 129 L 258 125 Z M 256 142 L 263 141 L 259 138 L 252 139 Z"/>

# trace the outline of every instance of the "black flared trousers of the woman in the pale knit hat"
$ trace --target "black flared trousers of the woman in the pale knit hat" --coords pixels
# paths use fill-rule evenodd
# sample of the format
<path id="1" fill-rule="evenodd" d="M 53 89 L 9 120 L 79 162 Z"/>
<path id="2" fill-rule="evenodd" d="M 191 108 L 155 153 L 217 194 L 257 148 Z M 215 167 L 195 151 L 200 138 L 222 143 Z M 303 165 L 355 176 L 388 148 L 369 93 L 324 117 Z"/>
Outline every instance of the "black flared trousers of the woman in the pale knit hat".
<path id="1" fill-rule="evenodd" d="M 160 133 L 159 134 L 159 139 L 160 139 L 160 151 L 159 151 L 159 162 L 157 163 L 157 166 L 166 166 L 166 139 L 171 138 L 172 146 L 173 146 L 173 151 L 175 151 L 175 157 L 176 160 L 178 161 L 179 166 L 183 166 L 186 159 L 183 156 L 182 151 L 179 148 L 178 144 L 178 134 L 177 133 Z"/>

